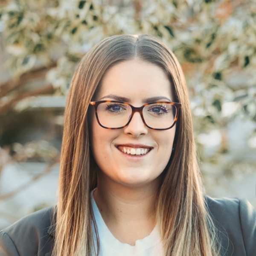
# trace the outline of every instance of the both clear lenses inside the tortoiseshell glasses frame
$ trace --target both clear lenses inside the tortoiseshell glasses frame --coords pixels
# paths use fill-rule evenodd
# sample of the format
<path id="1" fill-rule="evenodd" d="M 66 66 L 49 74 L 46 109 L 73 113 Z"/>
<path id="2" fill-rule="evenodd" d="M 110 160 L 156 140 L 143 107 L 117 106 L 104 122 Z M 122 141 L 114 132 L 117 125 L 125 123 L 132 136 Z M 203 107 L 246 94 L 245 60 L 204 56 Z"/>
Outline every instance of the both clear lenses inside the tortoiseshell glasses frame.
<path id="1" fill-rule="evenodd" d="M 145 123 L 155 129 L 169 128 L 175 121 L 177 109 L 168 103 L 152 103 L 143 108 Z M 125 126 L 132 113 L 130 105 L 117 102 L 102 102 L 98 105 L 99 122 L 108 128 Z"/>

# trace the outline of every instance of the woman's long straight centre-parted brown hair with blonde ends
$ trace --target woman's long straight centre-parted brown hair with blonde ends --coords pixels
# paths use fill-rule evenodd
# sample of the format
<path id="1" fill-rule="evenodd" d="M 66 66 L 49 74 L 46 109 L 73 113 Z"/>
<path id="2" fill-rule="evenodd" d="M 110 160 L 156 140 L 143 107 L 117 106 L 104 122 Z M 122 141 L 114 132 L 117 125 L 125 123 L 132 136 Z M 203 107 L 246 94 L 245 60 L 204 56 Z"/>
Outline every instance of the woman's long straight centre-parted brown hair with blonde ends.
<path id="1" fill-rule="evenodd" d="M 173 52 L 157 38 L 145 34 L 116 35 L 102 40 L 84 55 L 73 76 L 65 109 L 53 255 L 99 253 L 90 201 L 97 177 L 90 152 L 88 108 L 107 70 L 133 59 L 161 67 L 172 83 L 175 101 L 182 104 L 175 150 L 163 171 L 156 202 L 165 255 L 217 256 L 218 236 L 201 187 L 186 81 Z"/>

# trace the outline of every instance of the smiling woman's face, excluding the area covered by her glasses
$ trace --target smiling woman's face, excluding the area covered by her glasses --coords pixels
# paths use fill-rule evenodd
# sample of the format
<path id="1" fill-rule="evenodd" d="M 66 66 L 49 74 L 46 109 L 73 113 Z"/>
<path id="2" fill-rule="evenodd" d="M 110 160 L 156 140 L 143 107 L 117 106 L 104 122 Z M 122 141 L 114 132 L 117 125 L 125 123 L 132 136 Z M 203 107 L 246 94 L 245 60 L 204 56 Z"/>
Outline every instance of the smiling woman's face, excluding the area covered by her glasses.
<path id="1" fill-rule="evenodd" d="M 140 107 L 148 102 L 173 101 L 171 83 L 157 65 L 142 61 L 125 61 L 105 74 L 96 101 L 118 100 Z M 128 126 L 109 130 L 102 128 L 95 114 L 91 123 L 91 148 L 104 181 L 124 186 L 144 186 L 159 182 L 172 153 L 176 125 L 163 131 L 146 127 L 135 112 Z M 126 153 L 124 152 L 126 149 Z M 146 154 L 128 154 L 137 148 Z"/>

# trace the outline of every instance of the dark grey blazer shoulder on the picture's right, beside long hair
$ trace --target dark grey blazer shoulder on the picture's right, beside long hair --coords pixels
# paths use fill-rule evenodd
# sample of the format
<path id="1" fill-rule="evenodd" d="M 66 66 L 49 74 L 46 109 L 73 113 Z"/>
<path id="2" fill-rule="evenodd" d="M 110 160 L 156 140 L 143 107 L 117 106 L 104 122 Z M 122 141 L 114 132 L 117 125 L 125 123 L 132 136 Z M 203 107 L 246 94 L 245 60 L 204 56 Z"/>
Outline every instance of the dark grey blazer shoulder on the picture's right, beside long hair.
<path id="1" fill-rule="evenodd" d="M 244 199 L 205 197 L 209 214 L 220 231 L 227 255 L 255 255 L 256 210 Z"/>

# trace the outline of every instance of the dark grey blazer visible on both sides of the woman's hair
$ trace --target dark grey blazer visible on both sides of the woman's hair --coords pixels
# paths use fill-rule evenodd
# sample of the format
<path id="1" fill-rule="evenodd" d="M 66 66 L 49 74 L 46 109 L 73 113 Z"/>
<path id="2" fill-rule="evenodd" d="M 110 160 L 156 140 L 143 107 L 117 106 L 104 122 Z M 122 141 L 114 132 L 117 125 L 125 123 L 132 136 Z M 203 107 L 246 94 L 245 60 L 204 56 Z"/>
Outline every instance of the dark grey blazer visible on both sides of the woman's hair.
<path id="1" fill-rule="evenodd" d="M 219 230 L 221 256 L 256 256 L 256 211 L 246 200 L 209 198 L 206 206 Z M 0 232 L 0 256 L 50 256 L 52 207 L 32 213 Z"/>

